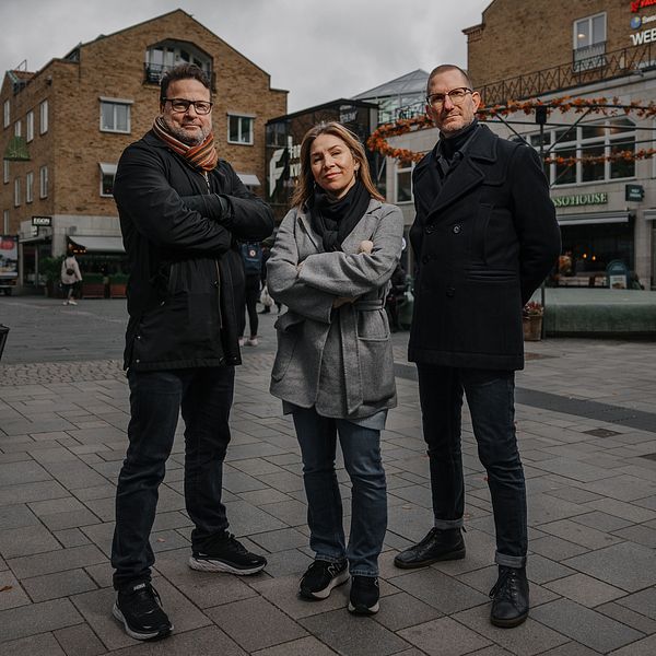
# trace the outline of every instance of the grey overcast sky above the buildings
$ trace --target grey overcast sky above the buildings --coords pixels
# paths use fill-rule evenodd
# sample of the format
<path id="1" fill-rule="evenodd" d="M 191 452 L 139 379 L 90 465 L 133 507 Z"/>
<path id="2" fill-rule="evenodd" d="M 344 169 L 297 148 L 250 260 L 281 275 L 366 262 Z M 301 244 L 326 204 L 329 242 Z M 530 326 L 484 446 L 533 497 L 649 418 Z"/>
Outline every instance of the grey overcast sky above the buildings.
<path id="1" fill-rule="evenodd" d="M 296 112 L 418 68 L 467 63 L 464 27 L 491 0 L 0 0 L 2 74 L 184 9 L 290 92 Z M 119 62 L 117 62 L 119 63 Z"/>

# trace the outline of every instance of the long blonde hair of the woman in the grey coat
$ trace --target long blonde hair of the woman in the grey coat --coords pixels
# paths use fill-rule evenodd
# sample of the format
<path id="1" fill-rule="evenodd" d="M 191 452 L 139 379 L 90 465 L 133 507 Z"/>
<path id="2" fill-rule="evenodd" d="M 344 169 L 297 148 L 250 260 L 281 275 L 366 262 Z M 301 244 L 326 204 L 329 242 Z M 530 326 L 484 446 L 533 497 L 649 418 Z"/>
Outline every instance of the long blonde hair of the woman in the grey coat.
<path id="1" fill-rule="evenodd" d="M 338 139 L 341 139 L 353 155 L 355 162 L 360 165 L 360 179 L 370 192 L 372 198 L 376 200 L 385 200 L 380 192 L 376 189 L 372 174 L 370 172 L 368 162 L 366 161 L 366 154 L 364 147 L 358 139 L 356 134 L 351 132 L 349 128 L 342 126 L 336 120 L 329 122 L 320 122 L 314 128 L 311 128 L 303 137 L 301 142 L 301 173 L 298 175 L 298 181 L 292 195 L 292 207 L 301 208 L 314 194 L 314 175 L 312 174 L 312 163 L 309 161 L 309 150 L 314 140 L 319 134 L 332 134 Z"/>

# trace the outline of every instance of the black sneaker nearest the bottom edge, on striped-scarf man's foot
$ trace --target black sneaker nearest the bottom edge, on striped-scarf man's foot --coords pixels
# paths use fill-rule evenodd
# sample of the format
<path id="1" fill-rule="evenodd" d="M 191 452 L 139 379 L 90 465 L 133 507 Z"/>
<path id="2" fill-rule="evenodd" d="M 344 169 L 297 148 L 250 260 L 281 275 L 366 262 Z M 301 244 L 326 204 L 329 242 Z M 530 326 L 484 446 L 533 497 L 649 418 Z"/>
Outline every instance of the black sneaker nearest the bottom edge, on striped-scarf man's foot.
<path id="1" fill-rule="evenodd" d="M 157 590 L 148 582 L 118 590 L 112 614 L 134 640 L 159 640 L 173 631 Z"/>

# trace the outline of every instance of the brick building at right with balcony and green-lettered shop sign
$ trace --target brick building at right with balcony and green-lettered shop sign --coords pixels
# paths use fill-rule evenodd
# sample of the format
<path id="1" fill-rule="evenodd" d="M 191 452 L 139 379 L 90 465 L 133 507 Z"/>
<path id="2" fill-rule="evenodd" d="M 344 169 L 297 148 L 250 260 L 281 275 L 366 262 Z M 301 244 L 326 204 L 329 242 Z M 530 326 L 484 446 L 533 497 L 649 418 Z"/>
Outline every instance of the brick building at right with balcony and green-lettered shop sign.
<path id="1" fill-rule="evenodd" d="M 494 0 L 464 33 L 468 73 L 488 106 L 563 96 L 618 106 L 656 101 L 654 0 Z M 656 148 L 653 117 L 622 107 L 550 110 L 540 126 L 532 110 L 488 125 L 546 160 L 563 255 L 572 265 L 552 283 L 608 284 L 607 267 L 619 260 L 646 289 L 655 285 L 656 157 L 631 156 Z M 427 152 L 437 138 L 427 129 L 390 142 Z M 389 200 L 403 208 L 407 222 L 411 168 L 395 162 L 387 174 Z"/>

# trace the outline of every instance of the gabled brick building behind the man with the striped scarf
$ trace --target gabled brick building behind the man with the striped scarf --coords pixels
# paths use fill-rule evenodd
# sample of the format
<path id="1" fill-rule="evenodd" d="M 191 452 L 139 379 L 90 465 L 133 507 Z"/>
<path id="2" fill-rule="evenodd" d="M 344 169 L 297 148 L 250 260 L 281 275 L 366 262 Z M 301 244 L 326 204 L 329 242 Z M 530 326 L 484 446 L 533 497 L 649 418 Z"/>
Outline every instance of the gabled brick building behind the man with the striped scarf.
<path id="1" fill-rule="evenodd" d="M 183 10 L 101 35 L 2 82 L 0 232 L 20 233 L 24 284 L 38 284 L 39 258 L 65 253 L 69 241 L 86 251 L 87 270 L 118 261 L 116 164 L 157 114 L 163 71 L 184 61 L 212 80 L 220 155 L 263 194 L 265 125 L 285 113 L 286 91 Z M 38 235 L 35 215 L 50 218 Z"/>

